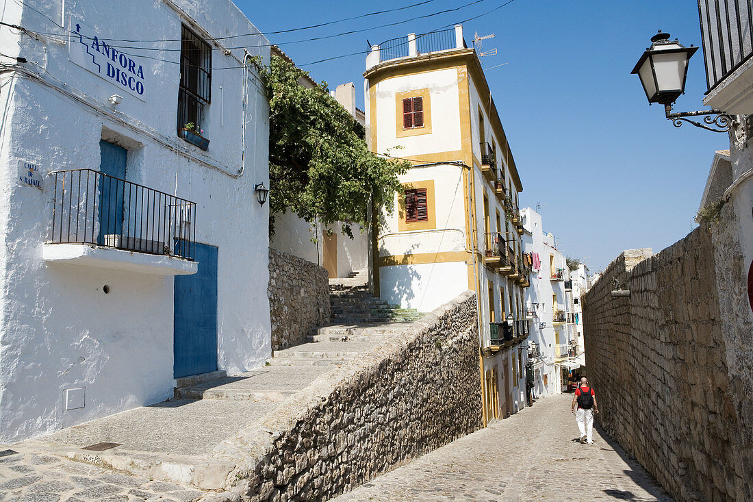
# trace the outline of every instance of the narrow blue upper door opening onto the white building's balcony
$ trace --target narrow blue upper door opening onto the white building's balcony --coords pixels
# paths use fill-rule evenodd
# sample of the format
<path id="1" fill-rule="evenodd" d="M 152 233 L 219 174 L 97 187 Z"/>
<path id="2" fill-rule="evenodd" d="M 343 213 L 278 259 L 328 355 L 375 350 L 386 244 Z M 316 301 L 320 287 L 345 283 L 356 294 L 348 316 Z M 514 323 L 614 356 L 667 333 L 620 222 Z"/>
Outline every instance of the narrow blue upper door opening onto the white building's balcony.
<path id="1" fill-rule="evenodd" d="M 99 154 L 102 161 L 99 172 L 108 176 L 99 176 L 99 238 L 97 243 L 105 242 L 105 235 L 123 233 L 123 179 L 126 179 L 126 158 L 128 151 L 106 141 L 99 142 Z M 109 177 L 112 176 L 112 177 Z"/>

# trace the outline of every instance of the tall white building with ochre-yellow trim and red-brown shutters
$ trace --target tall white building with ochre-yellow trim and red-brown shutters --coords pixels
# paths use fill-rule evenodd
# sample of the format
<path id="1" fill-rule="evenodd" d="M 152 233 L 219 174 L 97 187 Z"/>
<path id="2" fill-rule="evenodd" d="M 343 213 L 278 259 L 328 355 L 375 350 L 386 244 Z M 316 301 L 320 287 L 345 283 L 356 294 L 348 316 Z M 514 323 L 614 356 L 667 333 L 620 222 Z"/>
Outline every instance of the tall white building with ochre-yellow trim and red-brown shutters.
<path id="1" fill-rule="evenodd" d="M 427 312 L 477 293 L 484 421 L 526 403 L 528 286 L 520 176 L 480 60 L 462 26 L 371 48 L 365 115 L 372 152 L 405 158 L 405 197 L 373 232 L 381 298 Z"/>

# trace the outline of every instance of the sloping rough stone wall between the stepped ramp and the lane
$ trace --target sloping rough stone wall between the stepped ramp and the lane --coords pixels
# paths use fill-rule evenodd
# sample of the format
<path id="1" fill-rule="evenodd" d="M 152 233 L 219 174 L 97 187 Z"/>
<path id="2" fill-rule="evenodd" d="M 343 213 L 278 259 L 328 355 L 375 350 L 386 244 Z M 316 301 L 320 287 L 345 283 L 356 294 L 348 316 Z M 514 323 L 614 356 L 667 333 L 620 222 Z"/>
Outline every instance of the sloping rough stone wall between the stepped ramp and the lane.
<path id="1" fill-rule="evenodd" d="M 476 297 L 465 292 L 227 442 L 243 500 L 327 500 L 481 427 Z"/>

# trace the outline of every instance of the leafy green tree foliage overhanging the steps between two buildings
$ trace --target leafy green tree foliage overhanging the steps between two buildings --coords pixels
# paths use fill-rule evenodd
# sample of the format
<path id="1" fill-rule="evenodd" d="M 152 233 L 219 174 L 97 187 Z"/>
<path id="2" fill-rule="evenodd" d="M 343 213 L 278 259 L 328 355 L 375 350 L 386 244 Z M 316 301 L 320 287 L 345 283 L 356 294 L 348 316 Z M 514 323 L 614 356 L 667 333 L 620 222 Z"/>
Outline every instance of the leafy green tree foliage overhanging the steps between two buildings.
<path id="1" fill-rule="evenodd" d="M 394 210 L 398 175 L 410 163 L 369 151 L 364 127 L 330 96 L 327 84 L 299 84 L 306 72 L 273 56 L 262 70 L 270 100 L 270 231 L 275 213 L 293 211 L 325 227 L 364 228 L 373 207 Z"/>

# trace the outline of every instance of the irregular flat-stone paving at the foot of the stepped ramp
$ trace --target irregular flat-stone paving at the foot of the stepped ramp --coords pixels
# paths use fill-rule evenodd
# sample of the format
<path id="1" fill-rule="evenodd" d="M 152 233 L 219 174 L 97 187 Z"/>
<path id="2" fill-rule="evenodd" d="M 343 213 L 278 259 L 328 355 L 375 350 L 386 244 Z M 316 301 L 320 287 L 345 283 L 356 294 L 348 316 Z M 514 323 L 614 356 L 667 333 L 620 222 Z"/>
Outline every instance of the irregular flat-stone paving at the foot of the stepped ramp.
<path id="1" fill-rule="evenodd" d="M 173 500 L 191 502 L 205 492 L 138 478 L 93 465 L 68 461 L 37 451 L 10 447 L 17 454 L 0 457 L 0 500 L 23 502 L 135 502 L 136 500 Z M 0 446 L 0 451 L 8 447 Z M 204 500 L 210 500 L 209 497 Z"/>

